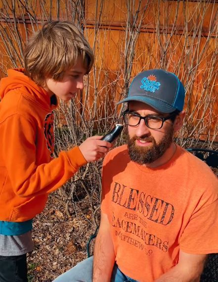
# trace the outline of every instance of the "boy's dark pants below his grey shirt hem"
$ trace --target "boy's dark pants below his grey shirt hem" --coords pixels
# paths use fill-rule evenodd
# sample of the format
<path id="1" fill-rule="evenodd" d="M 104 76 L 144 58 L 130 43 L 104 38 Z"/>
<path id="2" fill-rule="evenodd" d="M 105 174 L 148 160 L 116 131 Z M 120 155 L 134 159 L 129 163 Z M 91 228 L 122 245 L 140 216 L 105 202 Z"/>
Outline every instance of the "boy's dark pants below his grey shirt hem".
<path id="1" fill-rule="evenodd" d="M 27 255 L 0 255 L 0 282 L 28 282 Z"/>

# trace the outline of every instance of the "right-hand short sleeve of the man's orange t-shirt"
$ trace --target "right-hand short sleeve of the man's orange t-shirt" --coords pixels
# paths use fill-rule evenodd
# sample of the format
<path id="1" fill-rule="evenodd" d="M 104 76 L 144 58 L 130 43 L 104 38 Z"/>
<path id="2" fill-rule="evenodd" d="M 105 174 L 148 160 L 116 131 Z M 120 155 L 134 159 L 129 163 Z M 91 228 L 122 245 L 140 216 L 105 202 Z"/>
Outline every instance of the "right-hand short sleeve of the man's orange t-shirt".
<path id="1" fill-rule="evenodd" d="M 218 200 L 192 214 L 179 245 L 186 253 L 218 253 Z"/>

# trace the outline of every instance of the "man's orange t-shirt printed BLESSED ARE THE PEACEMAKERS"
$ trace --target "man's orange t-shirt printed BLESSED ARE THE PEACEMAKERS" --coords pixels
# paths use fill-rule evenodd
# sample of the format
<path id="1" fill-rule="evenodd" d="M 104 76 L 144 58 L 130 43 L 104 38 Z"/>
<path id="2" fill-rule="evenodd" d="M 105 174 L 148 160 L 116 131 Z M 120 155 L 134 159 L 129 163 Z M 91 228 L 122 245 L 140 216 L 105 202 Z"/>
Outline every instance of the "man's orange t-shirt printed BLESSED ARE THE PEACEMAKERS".
<path id="1" fill-rule="evenodd" d="M 127 146 L 103 162 L 101 210 L 108 215 L 116 262 L 139 282 L 153 282 L 186 253 L 218 252 L 218 179 L 181 147 L 157 168 L 130 160 Z"/>

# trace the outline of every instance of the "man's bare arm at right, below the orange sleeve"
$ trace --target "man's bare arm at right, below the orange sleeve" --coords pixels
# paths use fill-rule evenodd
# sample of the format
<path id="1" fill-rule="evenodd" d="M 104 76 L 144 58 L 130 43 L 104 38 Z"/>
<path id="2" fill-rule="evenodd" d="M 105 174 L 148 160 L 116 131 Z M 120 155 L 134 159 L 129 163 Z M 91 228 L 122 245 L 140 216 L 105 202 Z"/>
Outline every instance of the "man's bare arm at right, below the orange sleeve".
<path id="1" fill-rule="evenodd" d="M 206 254 L 188 254 L 179 251 L 178 264 L 155 282 L 199 282 Z"/>

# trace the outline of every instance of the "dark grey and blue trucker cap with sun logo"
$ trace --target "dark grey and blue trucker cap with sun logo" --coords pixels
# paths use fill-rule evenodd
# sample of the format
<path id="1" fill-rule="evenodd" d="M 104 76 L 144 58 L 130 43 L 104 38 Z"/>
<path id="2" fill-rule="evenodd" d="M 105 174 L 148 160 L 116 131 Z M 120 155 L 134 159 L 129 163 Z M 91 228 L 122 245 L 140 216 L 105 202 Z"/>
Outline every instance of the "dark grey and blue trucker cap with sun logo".
<path id="1" fill-rule="evenodd" d="M 185 89 L 173 73 L 156 69 L 139 73 L 131 82 L 127 98 L 117 103 L 138 101 L 161 113 L 182 111 Z"/>

